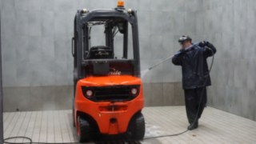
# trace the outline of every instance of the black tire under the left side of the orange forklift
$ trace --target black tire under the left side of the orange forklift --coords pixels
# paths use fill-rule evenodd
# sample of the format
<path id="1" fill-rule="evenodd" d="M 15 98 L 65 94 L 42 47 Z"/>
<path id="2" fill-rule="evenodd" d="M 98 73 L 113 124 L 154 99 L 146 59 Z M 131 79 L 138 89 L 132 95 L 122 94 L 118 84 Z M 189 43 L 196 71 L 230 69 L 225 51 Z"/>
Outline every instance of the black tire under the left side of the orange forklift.
<path id="1" fill-rule="evenodd" d="M 79 142 L 90 141 L 90 124 L 85 119 L 78 117 L 78 139 Z"/>

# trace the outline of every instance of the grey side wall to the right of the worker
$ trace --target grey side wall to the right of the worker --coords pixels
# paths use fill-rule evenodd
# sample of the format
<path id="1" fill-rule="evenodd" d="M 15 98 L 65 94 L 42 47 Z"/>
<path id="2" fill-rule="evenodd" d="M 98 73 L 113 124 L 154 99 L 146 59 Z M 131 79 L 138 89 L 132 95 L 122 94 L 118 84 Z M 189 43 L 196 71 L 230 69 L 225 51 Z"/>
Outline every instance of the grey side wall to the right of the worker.
<path id="1" fill-rule="evenodd" d="M 218 48 L 211 73 L 209 103 L 256 120 L 256 1 L 213 0 L 205 14 L 204 38 Z"/>

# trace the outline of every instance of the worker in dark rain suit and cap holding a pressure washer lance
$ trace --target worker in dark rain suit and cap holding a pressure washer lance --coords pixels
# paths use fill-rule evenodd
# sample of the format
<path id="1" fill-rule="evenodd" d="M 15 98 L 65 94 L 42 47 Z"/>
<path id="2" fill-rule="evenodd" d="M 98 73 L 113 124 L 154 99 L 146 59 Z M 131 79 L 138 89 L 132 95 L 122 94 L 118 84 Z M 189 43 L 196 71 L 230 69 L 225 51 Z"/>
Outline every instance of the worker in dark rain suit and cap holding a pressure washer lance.
<path id="1" fill-rule="evenodd" d="M 210 86 L 210 74 L 206 58 L 213 56 L 216 49 L 210 42 L 193 44 L 188 35 L 178 39 L 181 50 L 174 54 L 172 62 L 182 66 L 182 86 L 185 94 L 188 130 L 198 128 L 198 119 L 206 106 L 206 86 Z"/>

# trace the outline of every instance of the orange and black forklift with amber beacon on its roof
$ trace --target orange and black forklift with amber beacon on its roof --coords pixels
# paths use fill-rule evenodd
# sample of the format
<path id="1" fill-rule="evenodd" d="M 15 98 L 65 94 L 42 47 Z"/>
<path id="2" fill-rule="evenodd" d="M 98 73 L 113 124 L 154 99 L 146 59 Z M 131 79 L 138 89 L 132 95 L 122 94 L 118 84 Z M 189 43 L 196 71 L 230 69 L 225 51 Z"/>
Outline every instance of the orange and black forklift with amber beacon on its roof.
<path id="1" fill-rule="evenodd" d="M 123 1 L 114 9 L 78 10 L 72 54 L 72 113 L 79 142 L 98 134 L 142 140 L 144 97 L 136 11 L 126 10 Z"/>

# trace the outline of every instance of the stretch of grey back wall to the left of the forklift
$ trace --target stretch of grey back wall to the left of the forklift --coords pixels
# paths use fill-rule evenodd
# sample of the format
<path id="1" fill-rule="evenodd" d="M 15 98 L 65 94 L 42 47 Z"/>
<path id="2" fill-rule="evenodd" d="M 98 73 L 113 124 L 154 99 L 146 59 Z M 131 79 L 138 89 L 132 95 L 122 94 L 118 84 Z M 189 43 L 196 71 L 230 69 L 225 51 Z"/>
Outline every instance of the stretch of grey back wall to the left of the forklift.
<path id="1" fill-rule="evenodd" d="M 74 7 L 71 1 L 2 0 L 5 111 L 70 108 Z"/>

